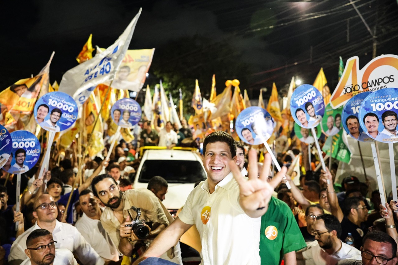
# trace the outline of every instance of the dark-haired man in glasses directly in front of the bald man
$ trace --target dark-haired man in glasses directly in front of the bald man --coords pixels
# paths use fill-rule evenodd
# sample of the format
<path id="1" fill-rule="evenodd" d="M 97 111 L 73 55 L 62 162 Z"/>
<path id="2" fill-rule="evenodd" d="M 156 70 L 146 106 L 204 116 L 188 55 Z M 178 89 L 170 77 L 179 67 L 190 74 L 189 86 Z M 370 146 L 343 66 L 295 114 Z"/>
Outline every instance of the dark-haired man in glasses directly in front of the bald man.
<path id="1" fill-rule="evenodd" d="M 28 256 L 21 265 L 77 265 L 72 252 L 68 249 L 55 249 L 56 241 L 48 230 L 37 229 L 26 239 L 25 254 Z"/>

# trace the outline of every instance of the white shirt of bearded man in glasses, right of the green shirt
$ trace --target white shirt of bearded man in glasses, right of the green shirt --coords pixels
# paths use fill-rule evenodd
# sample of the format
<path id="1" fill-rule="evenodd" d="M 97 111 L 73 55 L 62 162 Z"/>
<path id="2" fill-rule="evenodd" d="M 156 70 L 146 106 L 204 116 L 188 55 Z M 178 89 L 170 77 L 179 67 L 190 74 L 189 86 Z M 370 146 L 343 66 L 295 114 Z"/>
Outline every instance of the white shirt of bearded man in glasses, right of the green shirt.
<path id="1" fill-rule="evenodd" d="M 341 259 L 361 257 L 361 251 L 341 242 L 341 249 L 329 255 L 329 253 L 319 246 L 318 241 L 315 240 L 308 244 L 304 251 L 302 251 L 302 256 L 305 259 L 305 265 L 329 265 L 336 264 Z"/>

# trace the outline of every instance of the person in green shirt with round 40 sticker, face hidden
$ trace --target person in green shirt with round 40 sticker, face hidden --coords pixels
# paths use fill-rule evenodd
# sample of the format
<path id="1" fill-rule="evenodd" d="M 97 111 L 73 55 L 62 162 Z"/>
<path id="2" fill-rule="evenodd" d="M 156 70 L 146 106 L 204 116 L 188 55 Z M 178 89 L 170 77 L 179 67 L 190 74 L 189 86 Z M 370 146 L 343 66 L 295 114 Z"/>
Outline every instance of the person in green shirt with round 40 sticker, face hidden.
<path id="1" fill-rule="evenodd" d="M 283 201 L 271 197 L 261 217 L 261 265 L 296 264 L 296 250 L 306 247 L 292 210 Z"/>

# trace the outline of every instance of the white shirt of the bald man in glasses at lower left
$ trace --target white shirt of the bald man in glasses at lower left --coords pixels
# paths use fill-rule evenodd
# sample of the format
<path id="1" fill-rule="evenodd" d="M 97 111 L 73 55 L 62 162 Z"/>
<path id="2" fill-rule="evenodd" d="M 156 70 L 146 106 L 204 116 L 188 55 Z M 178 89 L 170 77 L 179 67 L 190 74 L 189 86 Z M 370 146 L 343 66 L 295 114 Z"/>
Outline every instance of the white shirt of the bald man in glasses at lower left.
<path id="1" fill-rule="evenodd" d="M 56 224 L 52 234 L 54 241 L 57 241 L 55 246 L 57 249 L 69 249 L 83 264 L 104 264 L 104 260 L 101 259 L 100 255 L 87 243 L 76 227 L 61 223 L 58 220 L 55 221 Z M 8 256 L 9 265 L 21 264 L 21 262 L 27 258 L 25 254 L 26 238 L 33 230 L 40 228 L 41 227 L 39 227 L 36 222 L 34 226 L 26 230 L 14 241 L 10 249 L 10 255 Z"/>

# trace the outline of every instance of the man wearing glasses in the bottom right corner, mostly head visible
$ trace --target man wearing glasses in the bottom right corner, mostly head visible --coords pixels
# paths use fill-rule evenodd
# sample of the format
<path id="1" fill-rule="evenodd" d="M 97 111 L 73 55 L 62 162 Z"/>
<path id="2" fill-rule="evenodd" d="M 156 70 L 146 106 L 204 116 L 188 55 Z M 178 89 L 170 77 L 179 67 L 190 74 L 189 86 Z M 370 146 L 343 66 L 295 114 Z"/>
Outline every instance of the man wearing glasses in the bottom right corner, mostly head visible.
<path id="1" fill-rule="evenodd" d="M 372 231 L 363 238 L 361 247 L 362 261 L 342 260 L 338 265 L 371 265 L 371 264 L 396 264 L 397 244 L 388 234 L 380 231 Z"/>

